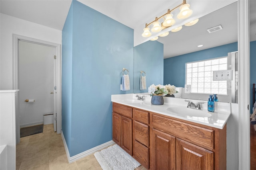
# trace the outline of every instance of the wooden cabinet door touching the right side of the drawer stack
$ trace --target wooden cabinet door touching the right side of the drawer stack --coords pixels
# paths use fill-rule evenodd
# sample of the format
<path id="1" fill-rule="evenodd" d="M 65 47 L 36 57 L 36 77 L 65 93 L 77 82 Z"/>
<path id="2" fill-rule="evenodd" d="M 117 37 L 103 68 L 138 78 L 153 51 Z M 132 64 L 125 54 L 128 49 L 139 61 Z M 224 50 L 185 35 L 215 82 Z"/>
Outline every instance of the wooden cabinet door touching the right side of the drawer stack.
<path id="1" fill-rule="evenodd" d="M 152 145 L 150 161 L 153 170 L 175 170 L 175 137 L 167 133 L 152 129 Z"/>

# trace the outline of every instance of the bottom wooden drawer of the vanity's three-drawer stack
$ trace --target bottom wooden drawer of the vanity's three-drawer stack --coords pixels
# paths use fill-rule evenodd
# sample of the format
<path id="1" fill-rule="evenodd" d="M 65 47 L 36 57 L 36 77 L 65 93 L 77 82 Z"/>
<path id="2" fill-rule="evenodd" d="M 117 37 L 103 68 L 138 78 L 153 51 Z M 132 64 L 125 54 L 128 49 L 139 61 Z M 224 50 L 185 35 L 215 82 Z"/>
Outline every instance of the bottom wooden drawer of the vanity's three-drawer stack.
<path id="1" fill-rule="evenodd" d="M 134 143 L 133 157 L 140 162 L 144 168 L 149 169 L 149 149 L 137 141 Z"/>

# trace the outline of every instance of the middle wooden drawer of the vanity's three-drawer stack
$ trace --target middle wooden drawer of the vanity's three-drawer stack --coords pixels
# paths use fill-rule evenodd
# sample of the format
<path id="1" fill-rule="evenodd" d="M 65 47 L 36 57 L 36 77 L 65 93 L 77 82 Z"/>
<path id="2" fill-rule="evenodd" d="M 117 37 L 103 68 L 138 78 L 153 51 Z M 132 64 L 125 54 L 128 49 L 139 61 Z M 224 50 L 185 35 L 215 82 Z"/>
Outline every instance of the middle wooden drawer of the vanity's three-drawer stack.
<path id="1" fill-rule="evenodd" d="M 134 139 L 145 146 L 149 146 L 149 127 L 138 121 L 134 121 Z"/>

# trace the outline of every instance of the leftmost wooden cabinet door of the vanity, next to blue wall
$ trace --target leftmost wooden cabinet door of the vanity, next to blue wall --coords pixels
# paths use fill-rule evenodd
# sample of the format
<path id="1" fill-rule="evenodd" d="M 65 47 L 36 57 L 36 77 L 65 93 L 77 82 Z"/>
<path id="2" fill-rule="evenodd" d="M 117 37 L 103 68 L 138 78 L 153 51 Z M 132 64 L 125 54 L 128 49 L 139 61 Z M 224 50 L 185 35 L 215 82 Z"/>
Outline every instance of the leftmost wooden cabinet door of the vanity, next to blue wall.
<path id="1" fill-rule="evenodd" d="M 112 139 L 121 147 L 121 115 L 112 112 Z"/>

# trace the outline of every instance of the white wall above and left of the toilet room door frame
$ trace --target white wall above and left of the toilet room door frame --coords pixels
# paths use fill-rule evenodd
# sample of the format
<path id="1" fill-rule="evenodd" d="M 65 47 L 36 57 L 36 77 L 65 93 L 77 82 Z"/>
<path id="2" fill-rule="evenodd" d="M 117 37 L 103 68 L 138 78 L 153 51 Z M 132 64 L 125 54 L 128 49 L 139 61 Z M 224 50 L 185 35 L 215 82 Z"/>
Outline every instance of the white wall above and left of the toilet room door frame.
<path id="1" fill-rule="evenodd" d="M 0 13 L 0 89 L 13 88 L 13 34 L 62 44 L 62 31 Z"/>

